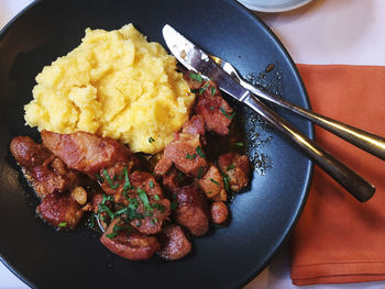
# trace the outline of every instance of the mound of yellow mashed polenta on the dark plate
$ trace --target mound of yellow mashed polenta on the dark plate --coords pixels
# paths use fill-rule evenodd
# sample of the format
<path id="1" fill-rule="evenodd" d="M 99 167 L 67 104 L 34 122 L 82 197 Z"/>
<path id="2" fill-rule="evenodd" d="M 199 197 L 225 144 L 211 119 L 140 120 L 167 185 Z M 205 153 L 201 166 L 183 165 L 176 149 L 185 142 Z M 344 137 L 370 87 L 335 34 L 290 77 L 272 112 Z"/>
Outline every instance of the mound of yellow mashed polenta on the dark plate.
<path id="1" fill-rule="evenodd" d="M 36 77 L 26 124 L 119 140 L 133 152 L 164 149 L 189 116 L 195 95 L 176 59 L 132 24 L 86 30 L 81 44 Z"/>

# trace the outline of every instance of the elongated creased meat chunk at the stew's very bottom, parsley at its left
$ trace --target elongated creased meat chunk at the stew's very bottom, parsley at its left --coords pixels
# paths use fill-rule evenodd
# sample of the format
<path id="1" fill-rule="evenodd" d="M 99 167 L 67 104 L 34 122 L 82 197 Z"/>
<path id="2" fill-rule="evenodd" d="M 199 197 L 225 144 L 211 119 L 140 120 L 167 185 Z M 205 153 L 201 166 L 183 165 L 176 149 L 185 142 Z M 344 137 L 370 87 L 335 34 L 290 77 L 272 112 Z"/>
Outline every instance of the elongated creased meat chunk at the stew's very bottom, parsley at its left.
<path id="1" fill-rule="evenodd" d="M 112 253 L 130 259 L 145 260 L 151 258 L 161 244 L 155 236 L 144 235 L 129 226 L 129 230 L 114 230 L 119 225 L 119 220 L 114 220 L 108 226 L 100 242 Z"/>

